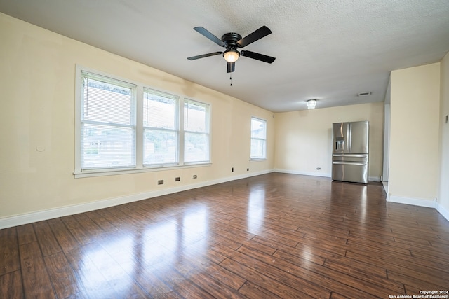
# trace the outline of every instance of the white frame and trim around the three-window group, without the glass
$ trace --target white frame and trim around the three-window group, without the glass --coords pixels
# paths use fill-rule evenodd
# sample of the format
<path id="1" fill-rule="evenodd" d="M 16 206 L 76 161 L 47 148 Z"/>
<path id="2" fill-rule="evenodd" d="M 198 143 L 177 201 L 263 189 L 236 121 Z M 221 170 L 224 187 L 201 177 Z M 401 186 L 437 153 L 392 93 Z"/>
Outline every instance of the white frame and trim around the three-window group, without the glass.
<path id="1" fill-rule="evenodd" d="M 139 173 L 139 172 L 154 172 L 166 169 L 181 169 L 186 167 L 204 167 L 212 164 L 212 140 L 211 140 L 211 130 L 210 130 L 210 120 L 212 117 L 212 105 L 206 101 L 199 101 L 197 99 L 187 98 L 182 95 L 177 95 L 173 92 L 168 92 L 166 90 L 161 90 L 161 88 L 154 88 L 150 85 L 139 83 L 137 81 L 133 81 L 126 78 L 121 78 L 119 76 L 115 76 L 112 74 L 107 74 L 103 71 L 98 71 L 95 69 L 90 69 L 88 67 L 83 67 L 81 65 L 76 64 L 76 78 L 75 78 L 75 139 L 74 139 L 74 177 L 82 178 L 82 177 L 90 177 L 90 176 L 108 176 L 108 175 L 116 175 L 116 174 L 130 174 L 130 173 Z M 81 117 L 82 117 L 82 108 L 83 104 L 83 78 L 82 72 L 86 72 L 88 74 L 95 74 L 95 76 L 110 78 L 116 81 L 122 81 L 124 83 L 129 83 L 136 85 L 135 87 L 135 101 L 134 101 L 134 116 L 135 116 L 135 167 L 117 167 L 117 168 L 91 168 L 91 169 L 82 169 L 81 168 Z M 143 102 L 144 102 L 144 89 L 146 90 L 154 90 L 155 92 L 159 92 L 161 94 L 170 95 L 173 97 L 177 97 L 177 115 L 176 123 L 177 123 L 177 162 L 175 163 L 167 163 L 167 164 L 150 164 L 145 165 L 144 163 L 144 132 L 145 126 L 143 125 Z M 207 125 L 208 125 L 208 160 L 201 162 L 184 162 L 184 105 L 185 101 L 192 101 L 199 103 L 201 105 L 205 105 L 208 107 L 207 117 Z"/>

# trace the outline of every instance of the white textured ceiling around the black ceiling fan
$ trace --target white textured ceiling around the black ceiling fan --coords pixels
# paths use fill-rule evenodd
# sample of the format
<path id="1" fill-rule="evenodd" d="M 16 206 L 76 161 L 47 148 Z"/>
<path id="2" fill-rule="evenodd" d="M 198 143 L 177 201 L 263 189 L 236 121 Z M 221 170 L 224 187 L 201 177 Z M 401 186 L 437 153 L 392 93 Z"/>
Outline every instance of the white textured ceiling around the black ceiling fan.
<path id="1" fill-rule="evenodd" d="M 382 102 L 394 69 L 438 62 L 449 51 L 448 0 L 0 0 L 0 11 L 273 112 Z M 217 37 L 272 34 L 245 47 L 232 86 Z M 358 92 L 372 92 L 357 97 Z"/>

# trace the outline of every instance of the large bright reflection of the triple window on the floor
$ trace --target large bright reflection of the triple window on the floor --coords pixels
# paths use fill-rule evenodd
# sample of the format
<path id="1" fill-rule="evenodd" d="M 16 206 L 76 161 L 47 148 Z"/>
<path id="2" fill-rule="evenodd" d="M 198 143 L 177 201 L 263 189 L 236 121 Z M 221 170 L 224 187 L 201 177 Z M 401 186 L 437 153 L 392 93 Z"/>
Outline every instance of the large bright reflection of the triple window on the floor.
<path id="1" fill-rule="evenodd" d="M 162 273 L 185 258 L 205 254 L 208 232 L 208 208 L 198 204 L 140 230 L 109 232 L 83 247 L 79 262 L 83 284 L 103 290 L 96 298 L 128 293 L 126 289 L 145 272 Z"/>

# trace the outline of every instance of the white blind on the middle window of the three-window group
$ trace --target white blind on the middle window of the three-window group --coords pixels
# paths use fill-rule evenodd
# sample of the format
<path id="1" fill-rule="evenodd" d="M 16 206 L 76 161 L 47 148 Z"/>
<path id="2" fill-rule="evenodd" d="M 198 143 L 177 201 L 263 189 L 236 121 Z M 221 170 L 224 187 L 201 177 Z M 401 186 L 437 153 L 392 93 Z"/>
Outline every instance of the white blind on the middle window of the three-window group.
<path id="1" fill-rule="evenodd" d="M 144 165 L 169 165 L 178 162 L 178 97 L 144 88 Z"/>

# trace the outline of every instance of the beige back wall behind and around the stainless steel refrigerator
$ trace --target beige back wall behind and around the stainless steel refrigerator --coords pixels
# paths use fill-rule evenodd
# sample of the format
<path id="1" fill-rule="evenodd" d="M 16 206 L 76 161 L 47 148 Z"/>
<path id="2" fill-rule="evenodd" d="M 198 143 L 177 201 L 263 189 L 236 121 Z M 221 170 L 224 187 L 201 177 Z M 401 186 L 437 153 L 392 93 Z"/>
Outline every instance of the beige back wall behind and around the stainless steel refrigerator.
<path id="1" fill-rule="evenodd" d="M 368 176 L 382 175 L 384 103 L 358 104 L 326 109 L 277 113 L 274 167 L 279 172 L 330 176 L 332 124 L 370 121 Z M 317 170 L 319 167 L 321 170 Z"/>

